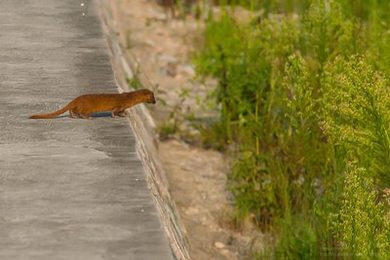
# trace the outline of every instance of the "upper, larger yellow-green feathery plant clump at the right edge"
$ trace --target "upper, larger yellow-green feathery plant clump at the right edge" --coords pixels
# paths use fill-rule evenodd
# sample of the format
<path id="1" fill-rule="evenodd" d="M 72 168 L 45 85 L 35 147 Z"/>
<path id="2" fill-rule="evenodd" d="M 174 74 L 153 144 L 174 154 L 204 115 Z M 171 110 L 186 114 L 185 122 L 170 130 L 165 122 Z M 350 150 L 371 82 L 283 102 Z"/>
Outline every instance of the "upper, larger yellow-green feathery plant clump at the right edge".
<path id="1" fill-rule="evenodd" d="M 327 64 L 323 79 L 324 128 L 335 142 L 390 185 L 390 88 L 363 57 Z M 367 156 L 370 155 L 370 156 Z"/>

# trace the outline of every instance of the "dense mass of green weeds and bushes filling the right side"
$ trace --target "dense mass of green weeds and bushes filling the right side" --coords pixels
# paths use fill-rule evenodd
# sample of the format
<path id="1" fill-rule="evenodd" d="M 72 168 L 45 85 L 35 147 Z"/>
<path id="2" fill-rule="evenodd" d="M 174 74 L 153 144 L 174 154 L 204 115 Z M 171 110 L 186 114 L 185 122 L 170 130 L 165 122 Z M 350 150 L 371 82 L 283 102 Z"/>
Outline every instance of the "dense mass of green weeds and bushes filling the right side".
<path id="1" fill-rule="evenodd" d="M 208 145 L 235 147 L 237 222 L 255 216 L 278 237 L 256 256 L 385 259 L 390 3 L 219 4 L 195 59 L 219 82 L 220 118 L 203 132 Z M 250 21 L 234 18 L 236 5 Z"/>

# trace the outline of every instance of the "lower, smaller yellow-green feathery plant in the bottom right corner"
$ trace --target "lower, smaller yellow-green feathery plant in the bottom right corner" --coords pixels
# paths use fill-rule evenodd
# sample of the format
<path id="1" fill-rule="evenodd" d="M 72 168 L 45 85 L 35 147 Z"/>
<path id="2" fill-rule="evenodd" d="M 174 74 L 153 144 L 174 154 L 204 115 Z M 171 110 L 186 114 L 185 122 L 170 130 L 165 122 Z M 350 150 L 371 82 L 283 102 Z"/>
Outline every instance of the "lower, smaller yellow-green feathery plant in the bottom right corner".
<path id="1" fill-rule="evenodd" d="M 377 203 L 371 174 L 348 163 L 344 192 L 336 224 L 340 251 L 362 259 L 386 259 L 390 255 L 390 222 L 382 202 Z"/>

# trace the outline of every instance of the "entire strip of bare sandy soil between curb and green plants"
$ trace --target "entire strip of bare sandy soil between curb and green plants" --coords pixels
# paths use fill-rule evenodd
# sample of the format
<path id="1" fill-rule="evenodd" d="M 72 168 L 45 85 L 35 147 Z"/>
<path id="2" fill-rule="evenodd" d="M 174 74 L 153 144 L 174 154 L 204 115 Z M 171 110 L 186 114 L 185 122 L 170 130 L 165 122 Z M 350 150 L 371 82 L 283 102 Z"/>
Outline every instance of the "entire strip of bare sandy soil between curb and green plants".
<path id="1" fill-rule="evenodd" d="M 169 10 L 151 0 L 119 0 L 112 5 L 123 46 L 141 64 L 149 81 L 158 85 L 159 102 L 151 111 L 157 125 L 171 115 L 212 115 L 201 104 L 213 84 L 194 80 L 191 64 L 203 23 L 191 15 L 172 19 Z M 262 248 L 262 235 L 251 221 L 240 231 L 232 225 L 234 209 L 226 190 L 229 169 L 222 154 L 175 137 L 161 141 L 159 151 L 192 259 L 245 259 L 251 250 Z"/>

